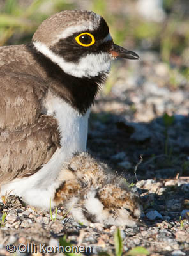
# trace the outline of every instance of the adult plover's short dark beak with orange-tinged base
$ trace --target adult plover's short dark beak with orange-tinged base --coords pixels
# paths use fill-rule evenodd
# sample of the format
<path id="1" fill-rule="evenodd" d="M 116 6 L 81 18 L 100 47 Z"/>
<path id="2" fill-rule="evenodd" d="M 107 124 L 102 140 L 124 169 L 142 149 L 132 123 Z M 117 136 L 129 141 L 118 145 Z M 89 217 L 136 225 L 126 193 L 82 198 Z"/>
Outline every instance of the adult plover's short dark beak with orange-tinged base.
<path id="1" fill-rule="evenodd" d="M 128 51 L 125 48 L 117 45 L 117 44 L 113 44 L 112 48 L 109 51 L 112 56 L 114 57 L 120 57 L 120 58 L 126 58 L 126 59 L 131 59 L 131 60 L 138 60 L 139 59 L 139 55 L 136 54 L 135 52 L 132 51 Z"/>

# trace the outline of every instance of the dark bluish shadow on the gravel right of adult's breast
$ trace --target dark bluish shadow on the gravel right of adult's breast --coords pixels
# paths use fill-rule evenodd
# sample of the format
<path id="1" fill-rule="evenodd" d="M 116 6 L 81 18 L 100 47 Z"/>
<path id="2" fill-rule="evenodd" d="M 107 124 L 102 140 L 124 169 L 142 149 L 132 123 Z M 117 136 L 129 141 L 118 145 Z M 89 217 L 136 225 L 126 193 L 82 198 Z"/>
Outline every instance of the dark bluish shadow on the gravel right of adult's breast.
<path id="1" fill-rule="evenodd" d="M 145 112 L 145 111 L 144 111 Z M 123 115 L 91 113 L 87 148 L 114 170 L 137 178 L 168 179 L 189 175 L 189 118 L 160 116 L 151 122 L 127 122 Z M 142 157 L 142 159 L 141 159 Z"/>

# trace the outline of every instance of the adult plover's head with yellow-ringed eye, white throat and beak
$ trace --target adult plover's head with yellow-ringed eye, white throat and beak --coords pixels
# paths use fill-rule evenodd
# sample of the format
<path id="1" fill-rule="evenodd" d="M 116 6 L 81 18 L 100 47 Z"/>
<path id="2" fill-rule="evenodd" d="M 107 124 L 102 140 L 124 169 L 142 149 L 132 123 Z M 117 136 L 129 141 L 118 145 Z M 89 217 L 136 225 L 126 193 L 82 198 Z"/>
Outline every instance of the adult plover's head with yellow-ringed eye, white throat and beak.
<path id="1" fill-rule="evenodd" d="M 114 44 L 103 17 L 89 11 L 57 13 L 40 25 L 33 43 L 38 51 L 75 77 L 105 74 L 116 57 L 139 58 L 135 52 Z"/>

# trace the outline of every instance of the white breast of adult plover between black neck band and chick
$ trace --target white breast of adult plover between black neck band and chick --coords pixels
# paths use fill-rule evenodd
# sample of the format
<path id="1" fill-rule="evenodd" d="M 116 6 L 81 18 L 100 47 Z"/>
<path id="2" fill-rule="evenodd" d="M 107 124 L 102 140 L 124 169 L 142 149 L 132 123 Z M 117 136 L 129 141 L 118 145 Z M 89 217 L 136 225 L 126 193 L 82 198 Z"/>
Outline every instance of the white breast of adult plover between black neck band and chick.
<path id="1" fill-rule="evenodd" d="M 56 116 L 61 135 L 61 151 L 64 159 L 68 159 L 75 152 L 86 151 L 88 118 L 90 110 L 80 115 L 69 104 L 49 92 L 43 102 L 47 115 Z"/>

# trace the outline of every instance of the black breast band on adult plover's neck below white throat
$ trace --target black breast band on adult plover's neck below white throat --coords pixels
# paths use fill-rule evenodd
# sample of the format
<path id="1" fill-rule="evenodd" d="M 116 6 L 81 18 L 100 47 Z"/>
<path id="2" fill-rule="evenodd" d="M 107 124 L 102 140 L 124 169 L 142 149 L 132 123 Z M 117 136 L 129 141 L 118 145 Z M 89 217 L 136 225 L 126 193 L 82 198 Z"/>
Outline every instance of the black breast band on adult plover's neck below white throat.
<path id="1" fill-rule="evenodd" d="M 26 49 L 45 71 L 44 79 L 52 92 L 84 115 L 93 104 L 100 84 L 105 82 L 107 74 L 104 72 L 94 77 L 75 77 L 64 72 L 59 65 L 38 51 L 34 44 L 28 44 Z"/>

